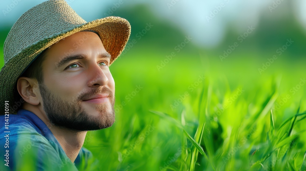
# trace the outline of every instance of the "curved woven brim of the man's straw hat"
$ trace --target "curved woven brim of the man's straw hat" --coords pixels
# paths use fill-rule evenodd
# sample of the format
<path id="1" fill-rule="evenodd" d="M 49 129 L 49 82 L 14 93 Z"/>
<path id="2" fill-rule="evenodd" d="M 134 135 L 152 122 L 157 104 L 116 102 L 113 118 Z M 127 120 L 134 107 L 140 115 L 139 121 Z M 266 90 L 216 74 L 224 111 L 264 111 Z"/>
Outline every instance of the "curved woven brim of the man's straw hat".
<path id="1" fill-rule="evenodd" d="M 1 111 L 5 110 L 4 101 L 9 101 L 9 104 L 14 102 L 14 87 L 17 79 L 26 67 L 39 55 L 43 50 L 47 49 L 52 44 L 60 41 L 62 38 L 73 35 L 76 32 L 92 30 L 99 33 L 105 50 L 110 53 L 112 64 L 122 53 L 131 34 L 131 26 L 129 22 L 121 17 L 105 17 L 91 22 L 87 22 L 75 27 L 63 30 L 59 33 L 43 38 L 34 44 L 28 45 L 21 50 L 20 53 L 14 55 L 0 71 L 0 104 Z M 16 105 L 19 103 L 16 102 Z M 10 106 L 10 113 L 17 113 L 18 106 Z M 4 115 L 4 114 L 2 114 Z"/>

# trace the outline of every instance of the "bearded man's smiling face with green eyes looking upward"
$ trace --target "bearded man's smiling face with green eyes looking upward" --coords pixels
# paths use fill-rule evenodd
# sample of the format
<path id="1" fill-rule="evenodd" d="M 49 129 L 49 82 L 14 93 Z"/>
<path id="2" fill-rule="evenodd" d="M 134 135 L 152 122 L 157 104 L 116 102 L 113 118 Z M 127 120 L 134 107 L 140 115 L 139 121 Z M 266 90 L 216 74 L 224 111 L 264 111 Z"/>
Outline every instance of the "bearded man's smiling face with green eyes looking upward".
<path id="1" fill-rule="evenodd" d="M 112 126 L 115 83 L 99 36 L 78 32 L 47 51 L 38 85 L 50 122 L 81 131 Z"/>

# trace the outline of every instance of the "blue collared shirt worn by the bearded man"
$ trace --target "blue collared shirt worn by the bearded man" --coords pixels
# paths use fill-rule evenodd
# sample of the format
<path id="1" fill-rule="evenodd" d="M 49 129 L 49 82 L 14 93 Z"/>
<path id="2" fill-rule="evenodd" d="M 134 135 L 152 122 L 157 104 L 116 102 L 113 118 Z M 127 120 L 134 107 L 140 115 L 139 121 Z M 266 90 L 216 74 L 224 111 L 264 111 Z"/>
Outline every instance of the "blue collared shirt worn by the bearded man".
<path id="1" fill-rule="evenodd" d="M 34 113 L 21 109 L 0 115 L 0 169 L 6 170 L 84 170 L 92 158 L 81 148 L 74 163 L 67 157 L 48 126 Z"/>

